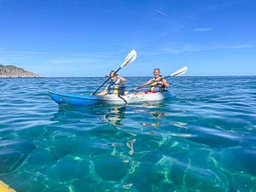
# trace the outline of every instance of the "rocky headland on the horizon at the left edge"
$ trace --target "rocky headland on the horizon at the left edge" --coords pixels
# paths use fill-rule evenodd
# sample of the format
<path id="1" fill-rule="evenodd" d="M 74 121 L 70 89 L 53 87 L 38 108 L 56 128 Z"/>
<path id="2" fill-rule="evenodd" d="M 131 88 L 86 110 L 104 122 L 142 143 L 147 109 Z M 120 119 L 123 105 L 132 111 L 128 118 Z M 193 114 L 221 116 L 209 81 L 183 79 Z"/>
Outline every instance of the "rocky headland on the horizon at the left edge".
<path id="1" fill-rule="evenodd" d="M 3 66 L 0 64 L 0 78 L 37 78 L 38 74 L 28 72 L 14 65 Z"/>

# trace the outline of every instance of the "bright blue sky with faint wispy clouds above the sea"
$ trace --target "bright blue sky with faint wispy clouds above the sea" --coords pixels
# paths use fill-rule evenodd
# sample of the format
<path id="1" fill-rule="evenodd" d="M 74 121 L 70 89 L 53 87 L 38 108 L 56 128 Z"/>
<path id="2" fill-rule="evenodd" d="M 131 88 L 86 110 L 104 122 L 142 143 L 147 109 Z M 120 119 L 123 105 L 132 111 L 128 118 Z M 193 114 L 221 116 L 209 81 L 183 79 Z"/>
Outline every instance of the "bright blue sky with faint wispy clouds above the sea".
<path id="1" fill-rule="evenodd" d="M 0 0 L 0 63 L 44 77 L 256 74 L 255 0 Z"/>

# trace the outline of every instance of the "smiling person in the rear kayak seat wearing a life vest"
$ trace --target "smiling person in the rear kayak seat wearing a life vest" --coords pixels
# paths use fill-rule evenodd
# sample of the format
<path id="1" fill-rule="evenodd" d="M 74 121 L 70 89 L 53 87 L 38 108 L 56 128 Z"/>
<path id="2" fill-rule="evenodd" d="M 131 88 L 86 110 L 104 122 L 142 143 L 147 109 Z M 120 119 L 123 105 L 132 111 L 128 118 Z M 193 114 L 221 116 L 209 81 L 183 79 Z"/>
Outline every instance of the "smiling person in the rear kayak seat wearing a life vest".
<path id="1" fill-rule="evenodd" d="M 160 74 L 159 68 L 154 69 L 154 78 L 153 79 L 149 79 L 148 82 L 146 82 L 145 84 L 142 84 L 141 86 L 134 88 L 134 90 L 142 89 L 143 87 L 148 86 L 148 85 L 150 85 L 149 90 L 139 92 L 139 93 L 137 93 L 137 95 L 162 92 L 166 89 L 166 87 L 169 87 L 169 83 Z"/>

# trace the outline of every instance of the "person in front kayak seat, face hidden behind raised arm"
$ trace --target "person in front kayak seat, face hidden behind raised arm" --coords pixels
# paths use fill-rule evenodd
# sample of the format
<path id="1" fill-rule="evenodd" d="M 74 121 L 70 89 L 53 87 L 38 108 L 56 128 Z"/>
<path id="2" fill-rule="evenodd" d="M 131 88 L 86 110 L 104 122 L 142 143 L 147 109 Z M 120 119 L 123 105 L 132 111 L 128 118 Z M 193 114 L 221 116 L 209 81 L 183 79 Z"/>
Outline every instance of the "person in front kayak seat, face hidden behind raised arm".
<path id="1" fill-rule="evenodd" d="M 96 94 L 96 96 L 105 96 L 107 94 L 117 94 L 119 96 L 123 96 L 125 93 L 125 78 L 122 76 L 115 74 L 115 71 L 111 71 L 109 73 L 110 81 L 106 86 L 105 90 L 101 93 Z"/>

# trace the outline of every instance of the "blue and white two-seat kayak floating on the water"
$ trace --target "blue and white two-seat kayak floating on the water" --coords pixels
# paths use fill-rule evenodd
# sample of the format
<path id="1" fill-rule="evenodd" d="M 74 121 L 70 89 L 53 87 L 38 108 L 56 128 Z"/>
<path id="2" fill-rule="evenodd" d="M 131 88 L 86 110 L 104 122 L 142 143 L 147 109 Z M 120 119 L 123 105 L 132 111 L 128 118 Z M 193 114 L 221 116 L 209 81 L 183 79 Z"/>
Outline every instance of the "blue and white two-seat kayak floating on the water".
<path id="1" fill-rule="evenodd" d="M 165 99 L 174 97 L 170 91 L 148 93 L 137 95 L 136 93 L 127 94 L 125 96 L 117 96 L 115 94 L 106 96 L 85 96 L 70 93 L 56 93 L 48 91 L 51 99 L 58 104 L 67 104 L 73 106 L 89 106 L 96 104 L 126 104 L 136 102 L 160 102 Z"/>

